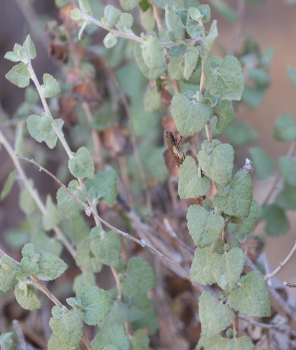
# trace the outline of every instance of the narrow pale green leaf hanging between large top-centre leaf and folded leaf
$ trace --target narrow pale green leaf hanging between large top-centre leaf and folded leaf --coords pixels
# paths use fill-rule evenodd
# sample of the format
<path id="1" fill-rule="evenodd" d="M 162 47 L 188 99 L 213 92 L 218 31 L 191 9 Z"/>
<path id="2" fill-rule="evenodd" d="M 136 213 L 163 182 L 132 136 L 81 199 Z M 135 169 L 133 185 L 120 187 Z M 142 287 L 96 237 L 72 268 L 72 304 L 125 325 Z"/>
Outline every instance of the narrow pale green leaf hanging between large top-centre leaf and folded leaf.
<path id="1" fill-rule="evenodd" d="M 184 76 L 185 45 L 176 45 L 168 52 L 168 75 L 171 80 L 181 80 Z"/>

